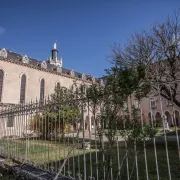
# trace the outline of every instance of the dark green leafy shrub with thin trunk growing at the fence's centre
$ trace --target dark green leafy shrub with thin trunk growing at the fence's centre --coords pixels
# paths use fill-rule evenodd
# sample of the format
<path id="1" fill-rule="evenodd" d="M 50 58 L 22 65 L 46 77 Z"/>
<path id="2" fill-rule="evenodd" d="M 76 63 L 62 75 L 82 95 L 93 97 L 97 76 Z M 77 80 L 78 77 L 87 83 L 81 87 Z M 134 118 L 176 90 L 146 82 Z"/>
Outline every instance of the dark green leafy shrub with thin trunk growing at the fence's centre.
<path id="1" fill-rule="evenodd" d="M 134 146 L 134 143 L 142 143 L 154 137 L 156 133 L 151 125 L 145 122 L 142 124 L 140 109 L 132 104 L 133 96 L 141 101 L 151 90 L 148 84 L 142 83 L 145 79 L 145 66 L 139 64 L 129 68 L 122 67 L 118 63 L 116 61 L 115 65 L 106 71 L 104 86 L 93 84 L 86 91 L 97 124 L 98 148 L 106 157 L 105 161 L 100 160 L 98 164 L 100 167 L 105 167 L 105 179 L 110 178 L 113 147 L 117 142 L 117 134 L 125 139 L 129 149 Z M 127 103 L 128 100 L 131 103 Z M 125 104 L 128 104 L 126 109 Z M 104 136 L 108 140 L 106 150 L 102 145 Z"/>

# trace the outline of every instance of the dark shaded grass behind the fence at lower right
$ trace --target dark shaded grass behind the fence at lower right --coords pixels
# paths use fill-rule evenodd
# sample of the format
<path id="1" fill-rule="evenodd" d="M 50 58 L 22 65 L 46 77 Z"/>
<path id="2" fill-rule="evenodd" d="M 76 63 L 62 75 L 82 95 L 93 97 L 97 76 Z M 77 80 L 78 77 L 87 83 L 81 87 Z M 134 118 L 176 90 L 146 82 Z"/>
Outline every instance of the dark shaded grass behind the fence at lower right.
<path id="1" fill-rule="evenodd" d="M 170 147 L 171 146 L 171 147 Z M 128 165 L 129 169 L 128 171 L 131 174 L 131 179 L 135 180 L 136 179 L 136 166 L 134 166 L 134 171 L 133 169 L 133 163 L 134 163 L 134 157 L 135 154 L 133 152 L 133 149 L 131 149 L 132 152 L 129 153 L 128 157 Z M 157 172 L 156 172 L 156 161 L 155 161 L 155 155 L 154 155 L 154 148 L 152 145 L 147 145 L 146 148 L 146 153 L 147 153 L 147 166 L 148 166 L 148 176 L 149 180 L 156 180 L 157 179 Z M 113 179 L 116 179 L 116 175 L 118 174 L 118 154 L 117 154 L 117 149 L 114 148 L 114 153 L 113 153 L 113 160 L 112 160 L 112 176 Z M 139 151 L 139 150 L 138 150 Z M 162 180 L 169 180 L 168 176 L 168 166 L 167 166 L 167 158 L 166 158 L 166 152 L 165 152 L 165 146 L 164 144 L 159 144 L 157 146 L 157 161 L 158 161 L 158 170 L 159 170 L 159 177 Z M 120 157 L 120 163 L 122 162 L 122 159 L 125 155 L 125 149 L 123 147 L 119 148 L 119 157 Z M 169 161 L 170 161 L 170 170 L 171 170 L 171 179 L 172 180 L 180 180 L 180 160 L 178 157 L 178 151 L 176 144 L 171 143 L 169 144 L 169 149 L 168 149 L 168 155 L 169 155 Z M 103 179 L 103 174 L 104 174 L 104 168 L 102 164 L 102 153 L 98 152 L 98 164 L 96 164 L 96 153 L 93 152 L 91 153 L 91 160 L 90 160 L 90 153 L 86 154 L 86 172 L 87 175 L 90 176 L 91 174 L 91 169 L 92 169 L 92 174 L 95 179 Z M 141 151 L 141 153 L 138 154 L 137 156 L 138 159 L 138 174 L 139 174 L 139 180 L 146 180 L 146 168 L 145 168 L 145 155 L 144 152 Z M 73 160 L 71 159 L 71 162 Z M 77 163 L 77 158 L 75 159 L 75 162 Z M 101 162 L 101 163 L 100 163 Z M 72 163 L 70 163 L 70 169 L 72 169 Z M 83 156 L 80 157 L 80 168 L 75 166 L 75 172 L 80 171 L 81 174 L 84 173 L 83 169 Z M 68 166 L 66 165 L 66 168 Z M 97 178 L 97 171 L 98 171 L 98 178 Z M 120 179 L 120 178 L 119 178 Z M 126 161 L 124 161 L 123 166 L 122 166 L 122 171 L 121 171 L 121 180 L 127 180 L 127 166 L 126 166 Z"/>

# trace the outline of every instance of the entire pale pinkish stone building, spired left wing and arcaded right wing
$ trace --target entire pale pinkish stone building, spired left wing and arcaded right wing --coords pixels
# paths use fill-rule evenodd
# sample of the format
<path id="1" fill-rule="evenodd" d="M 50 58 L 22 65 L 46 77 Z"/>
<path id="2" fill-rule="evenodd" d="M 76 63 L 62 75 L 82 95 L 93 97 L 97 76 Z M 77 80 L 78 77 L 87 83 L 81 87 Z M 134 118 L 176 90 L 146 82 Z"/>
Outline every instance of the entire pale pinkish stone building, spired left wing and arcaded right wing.
<path id="1" fill-rule="evenodd" d="M 56 43 L 54 43 L 50 58 L 45 61 L 31 58 L 28 55 L 20 55 L 5 48 L 0 49 L 1 105 L 43 100 L 54 92 L 57 83 L 69 89 L 75 81 L 77 84 L 86 85 L 92 84 L 92 82 L 103 83 L 102 79 L 95 79 L 93 76 L 64 68 L 62 58 L 58 58 Z M 139 106 L 135 99 L 133 99 L 133 103 L 135 106 Z M 150 119 L 152 114 L 154 120 L 161 123 L 161 115 L 166 114 L 169 126 L 174 125 L 174 121 L 180 125 L 179 108 L 172 106 L 171 102 L 163 98 L 162 101 L 158 96 L 150 99 L 145 98 L 140 106 L 142 107 L 143 119 L 146 121 Z M 84 119 L 86 129 L 94 127 L 92 114 L 88 117 L 87 112 L 85 112 Z M 3 127 L 1 129 L 5 131 L 17 129 L 19 126 L 19 123 L 14 122 L 12 117 L 0 123 Z"/>

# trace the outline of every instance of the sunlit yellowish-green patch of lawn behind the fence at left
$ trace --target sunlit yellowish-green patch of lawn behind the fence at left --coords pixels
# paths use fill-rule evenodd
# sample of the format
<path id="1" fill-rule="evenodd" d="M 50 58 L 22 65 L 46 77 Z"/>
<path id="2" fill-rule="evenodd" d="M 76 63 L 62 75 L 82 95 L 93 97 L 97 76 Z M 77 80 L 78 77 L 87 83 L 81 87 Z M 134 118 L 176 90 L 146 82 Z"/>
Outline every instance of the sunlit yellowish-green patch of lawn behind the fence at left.
<path id="1" fill-rule="evenodd" d="M 67 156 L 68 151 L 73 147 L 73 144 L 69 143 L 68 145 L 67 142 L 59 143 L 43 140 L 2 140 L 0 141 L 0 146 L 3 147 L 5 153 L 15 154 L 19 158 L 37 164 L 47 164 L 55 160 L 63 160 Z M 74 148 L 70 157 L 77 156 L 78 154 L 81 155 L 82 153 L 82 149 Z"/>

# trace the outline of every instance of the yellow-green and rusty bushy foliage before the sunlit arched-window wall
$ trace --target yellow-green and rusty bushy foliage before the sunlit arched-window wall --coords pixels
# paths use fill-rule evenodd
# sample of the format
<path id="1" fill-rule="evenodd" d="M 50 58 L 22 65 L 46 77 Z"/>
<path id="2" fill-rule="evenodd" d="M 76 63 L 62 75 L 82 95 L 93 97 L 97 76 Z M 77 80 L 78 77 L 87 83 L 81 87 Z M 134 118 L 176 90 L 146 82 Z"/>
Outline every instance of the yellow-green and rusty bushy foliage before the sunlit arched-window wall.
<path id="1" fill-rule="evenodd" d="M 56 86 L 44 104 L 45 111 L 37 113 L 30 121 L 30 129 L 47 137 L 49 134 L 63 134 L 67 126 L 80 120 L 80 104 L 75 101 L 76 93 Z"/>

